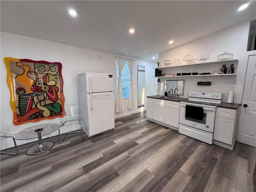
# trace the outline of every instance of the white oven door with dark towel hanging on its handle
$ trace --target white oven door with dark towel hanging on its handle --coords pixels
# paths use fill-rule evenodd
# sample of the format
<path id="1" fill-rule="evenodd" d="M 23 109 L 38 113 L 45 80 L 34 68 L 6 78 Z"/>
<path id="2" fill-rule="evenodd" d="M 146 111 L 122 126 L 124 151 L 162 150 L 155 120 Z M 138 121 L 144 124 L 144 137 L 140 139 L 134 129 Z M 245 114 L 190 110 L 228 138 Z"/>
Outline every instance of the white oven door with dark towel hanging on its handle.
<path id="1" fill-rule="evenodd" d="M 180 124 L 213 133 L 216 108 L 180 104 Z"/>

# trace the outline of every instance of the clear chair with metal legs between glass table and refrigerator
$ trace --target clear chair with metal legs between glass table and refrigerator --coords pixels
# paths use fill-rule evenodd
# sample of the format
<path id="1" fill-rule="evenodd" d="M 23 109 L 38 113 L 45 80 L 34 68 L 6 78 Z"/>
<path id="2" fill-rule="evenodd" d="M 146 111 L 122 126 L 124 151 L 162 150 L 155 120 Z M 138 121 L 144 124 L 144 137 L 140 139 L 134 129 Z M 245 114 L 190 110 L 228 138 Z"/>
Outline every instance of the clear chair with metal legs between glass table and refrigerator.
<path id="1" fill-rule="evenodd" d="M 62 142 L 62 140 L 66 137 L 69 133 L 78 133 L 82 132 L 82 138 L 84 140 L 84 131 L 82 130 L 82 120 L 83 120 L 83 114 L 82 111 L 80 111 L 80 104 L 72 104 L 72 105 L 65 105 L 65 114 L 63 118 L 60 118 L 60 125 L 59 125 L 59 143 Z M 75 130 L 68 132 L 64 135 L 64 137 L 60 140 L 60 128 L 63 126 L 71 126 L 80 124 L 81 130 Z"/>

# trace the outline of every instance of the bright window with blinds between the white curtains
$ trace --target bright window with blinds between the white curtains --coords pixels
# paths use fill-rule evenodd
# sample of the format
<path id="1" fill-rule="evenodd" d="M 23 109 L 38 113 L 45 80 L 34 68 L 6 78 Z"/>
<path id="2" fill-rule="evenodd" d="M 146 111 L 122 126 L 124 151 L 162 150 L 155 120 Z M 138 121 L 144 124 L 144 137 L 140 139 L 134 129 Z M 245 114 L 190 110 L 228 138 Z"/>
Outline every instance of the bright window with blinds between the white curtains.
<path id="1" fill-rule="evenodd" d="M 119 71 L 116 61 L 116 98 L 118 96 L 118 78 Z M 133 78 L 133 70 L 132 70 L 132 78 Z M 127 61 L 124 64 L 124 68 L 122 70 L 122 90 L 123 90 L 123 98 L 128 99 L 130 95 L 130 71 L 128 67 Z"/>

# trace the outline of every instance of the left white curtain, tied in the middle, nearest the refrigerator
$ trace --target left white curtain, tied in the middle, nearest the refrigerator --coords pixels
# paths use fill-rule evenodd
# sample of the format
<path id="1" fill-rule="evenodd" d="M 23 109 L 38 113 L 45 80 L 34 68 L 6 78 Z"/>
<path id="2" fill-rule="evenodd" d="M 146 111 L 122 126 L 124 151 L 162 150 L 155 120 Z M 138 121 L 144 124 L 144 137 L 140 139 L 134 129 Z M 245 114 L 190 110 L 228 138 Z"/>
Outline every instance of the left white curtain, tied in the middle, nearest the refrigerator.
<path id="1" fill-rule="evenodd" d="M 124 64 L 126 58 L 123 57 L 116 57 L 119 76 L 118 76 L 118 94 L 117 94 L 117 101 L 116 101 L 116 112 L 124 111 L 124 99 L 123 99 L 123 90 L 122 90 L 122 70 L 124 68 Z"/>

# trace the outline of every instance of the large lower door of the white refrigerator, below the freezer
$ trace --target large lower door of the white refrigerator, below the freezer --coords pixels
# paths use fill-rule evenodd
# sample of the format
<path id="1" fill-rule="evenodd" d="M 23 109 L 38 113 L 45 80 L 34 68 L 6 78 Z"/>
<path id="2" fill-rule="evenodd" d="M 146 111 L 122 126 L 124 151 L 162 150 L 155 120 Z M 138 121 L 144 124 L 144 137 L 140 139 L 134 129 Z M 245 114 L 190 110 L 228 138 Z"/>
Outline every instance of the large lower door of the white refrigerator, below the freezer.
<path id="1" fill-rule="evenodd" d="M 89 135 L 113 129 L 114 122 L 114 92 L 100 92 L 87 94 Z"/>

